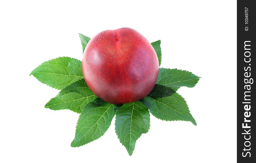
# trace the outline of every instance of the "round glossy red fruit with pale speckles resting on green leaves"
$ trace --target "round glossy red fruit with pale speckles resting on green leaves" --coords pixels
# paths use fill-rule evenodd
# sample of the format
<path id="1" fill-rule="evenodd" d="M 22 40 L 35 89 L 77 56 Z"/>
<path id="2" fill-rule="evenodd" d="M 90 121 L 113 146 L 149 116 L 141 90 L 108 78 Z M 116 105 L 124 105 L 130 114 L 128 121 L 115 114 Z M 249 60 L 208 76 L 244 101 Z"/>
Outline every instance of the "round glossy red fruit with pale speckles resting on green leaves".
<path id="1" fill-rule="evenodd" d="M 159 64 L 148 40 L 131 28 L 105 30 L 87 44 L 82 71 L 86 84 L 105 102 L 124 104 L 147 96 Z"/>

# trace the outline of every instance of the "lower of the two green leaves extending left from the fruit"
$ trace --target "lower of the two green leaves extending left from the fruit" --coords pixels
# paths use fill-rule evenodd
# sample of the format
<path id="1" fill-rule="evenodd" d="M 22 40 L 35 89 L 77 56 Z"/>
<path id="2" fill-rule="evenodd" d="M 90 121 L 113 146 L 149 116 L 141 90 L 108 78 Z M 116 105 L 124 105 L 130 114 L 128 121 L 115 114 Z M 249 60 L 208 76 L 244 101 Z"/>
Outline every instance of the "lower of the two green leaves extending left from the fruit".
<path id="1" fill-rule="evenodd" d="M 52 110 L 70 109 L 81 113 L 84 106 L 95 98 L 97 96 L 89 89 L 84 79 L 80 79 L 62 89 L 56 97 L 45 105 L 45 108 Z"/>

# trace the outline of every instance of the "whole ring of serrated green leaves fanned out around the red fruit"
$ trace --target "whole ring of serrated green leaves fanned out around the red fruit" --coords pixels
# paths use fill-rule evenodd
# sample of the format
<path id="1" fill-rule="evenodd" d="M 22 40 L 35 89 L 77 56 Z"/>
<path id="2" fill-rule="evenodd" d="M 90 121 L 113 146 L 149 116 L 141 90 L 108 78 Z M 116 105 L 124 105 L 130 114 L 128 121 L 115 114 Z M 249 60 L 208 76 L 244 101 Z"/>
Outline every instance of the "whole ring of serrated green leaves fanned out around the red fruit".
<path id="1" fill-rule="evenodd" d="M 79 34 L 83 51 L 90 38 Z M 161 64 L 161 41 L 152 42 Z M 114 105 L 102 101 L 86 85 L 81 70 L 81 61 L 70 57 L 59 57 L 46 61 L 30 75 L 40 82 L 59 89 L 45 108 L 69 109 L 79 113 L 72 147 L 85 145 L 101 137 L 116 115 L 115 130 L 120 142 L 132 155 L 136 140 L 147 133 L 150 114 L 164 121 L 190 121 L 196 125 L 184 98 L 176 91 L 183 86 L 194 87 L 198 76 L 189 71 L 159 68 L 157 83 L 148 96 L 140 101 Z"/>

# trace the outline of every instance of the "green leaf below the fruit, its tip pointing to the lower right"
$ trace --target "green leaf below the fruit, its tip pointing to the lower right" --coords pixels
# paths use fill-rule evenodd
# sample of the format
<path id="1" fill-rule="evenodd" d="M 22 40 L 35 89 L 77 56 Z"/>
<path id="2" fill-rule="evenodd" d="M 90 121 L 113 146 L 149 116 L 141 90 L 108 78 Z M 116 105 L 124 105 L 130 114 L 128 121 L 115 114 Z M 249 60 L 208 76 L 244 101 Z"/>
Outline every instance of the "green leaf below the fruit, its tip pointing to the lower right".
<path id="1" fill-rule="evenodd" d="M 196 125 L 184 98 L 178 93 L 166 97 L 146 96 L 142 100 L 152 115 L 165 121 L 190 121 Z"/>

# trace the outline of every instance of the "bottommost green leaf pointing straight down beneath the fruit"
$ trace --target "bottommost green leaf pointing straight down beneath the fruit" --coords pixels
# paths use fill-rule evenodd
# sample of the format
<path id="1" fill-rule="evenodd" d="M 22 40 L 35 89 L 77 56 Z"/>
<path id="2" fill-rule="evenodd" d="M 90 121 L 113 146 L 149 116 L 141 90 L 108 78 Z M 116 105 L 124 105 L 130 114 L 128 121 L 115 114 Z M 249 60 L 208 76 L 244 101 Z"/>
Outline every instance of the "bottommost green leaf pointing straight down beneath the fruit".
<path id="1" fill-rule="evenodd" d="M 123 104 L 116 111 L 116 134 L 130 156 L 136 140 L 149 130 L 149 116 L 148 108 L 139 101 Z"/>

